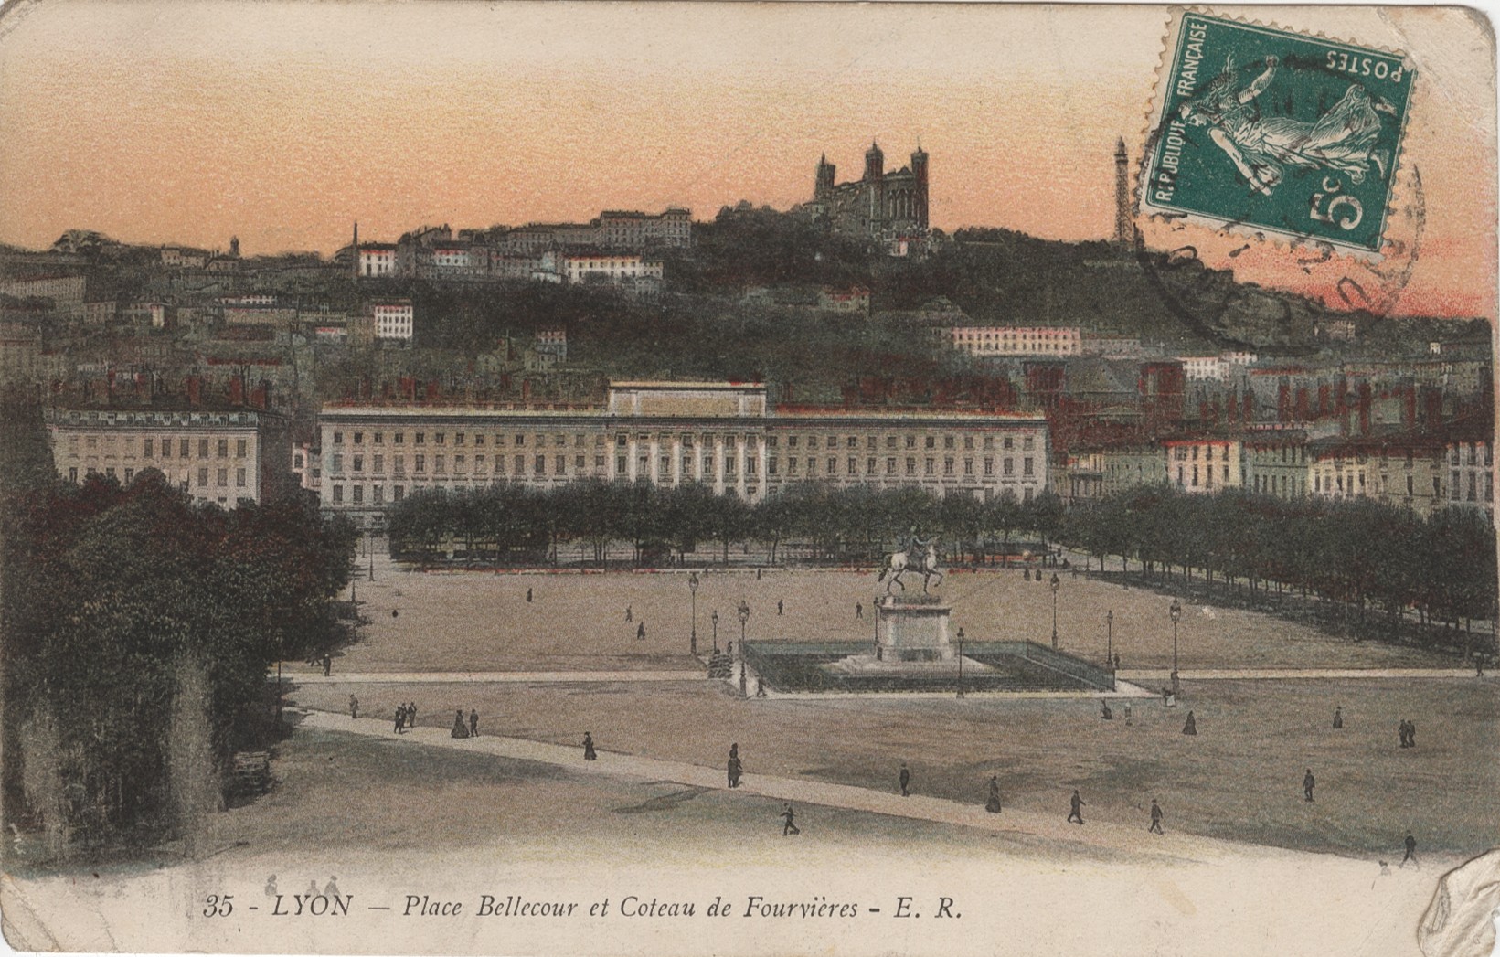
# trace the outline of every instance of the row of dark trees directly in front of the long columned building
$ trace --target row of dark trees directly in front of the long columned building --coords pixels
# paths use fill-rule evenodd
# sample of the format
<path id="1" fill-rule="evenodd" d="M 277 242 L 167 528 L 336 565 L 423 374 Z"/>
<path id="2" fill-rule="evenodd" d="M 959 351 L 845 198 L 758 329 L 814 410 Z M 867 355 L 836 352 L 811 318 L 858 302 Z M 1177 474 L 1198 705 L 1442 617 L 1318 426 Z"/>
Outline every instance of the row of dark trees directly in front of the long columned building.
<path id="1" fill-rule="evenodd" d="M 650 482 L 584 480 L 552 489 L 492 484 L 474 490 L 423 489 L 390 512 L 390 544 L 399 558 L 462 554 L 474 560 L 537 561 L 574 543 L 585 561 L 603 562 L 610 542 L 628 542 L 634 560 L 656 561 L 712 543 L 729 549 L 758 542 L 778 561 L 788 542 L 819 561 L 872 561 L 914 530 L 944 536 L 950 549 L 993 560 L 1028 537 L 1058 531 L 1062 504 L 1053 495 L 990 502 L 921 488 L 798 483 L 754 506 L 716 495 L 702 484 L 662 488 Z"/>

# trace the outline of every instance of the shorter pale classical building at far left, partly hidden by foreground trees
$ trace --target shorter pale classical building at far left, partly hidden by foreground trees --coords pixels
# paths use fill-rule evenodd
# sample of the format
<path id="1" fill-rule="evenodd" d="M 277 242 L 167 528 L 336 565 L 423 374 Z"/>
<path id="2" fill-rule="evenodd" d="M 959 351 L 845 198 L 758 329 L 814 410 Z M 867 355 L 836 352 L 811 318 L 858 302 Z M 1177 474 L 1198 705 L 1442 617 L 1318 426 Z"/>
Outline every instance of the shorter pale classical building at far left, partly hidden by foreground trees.
<path id="1" fill-rule="evenodd" d="M 284 416 L 260 408 L 48 410 L 57 474 L 104 474 L 129 484 L 147 468 L 194 498 L 232 508 L 294 488 Z"/>

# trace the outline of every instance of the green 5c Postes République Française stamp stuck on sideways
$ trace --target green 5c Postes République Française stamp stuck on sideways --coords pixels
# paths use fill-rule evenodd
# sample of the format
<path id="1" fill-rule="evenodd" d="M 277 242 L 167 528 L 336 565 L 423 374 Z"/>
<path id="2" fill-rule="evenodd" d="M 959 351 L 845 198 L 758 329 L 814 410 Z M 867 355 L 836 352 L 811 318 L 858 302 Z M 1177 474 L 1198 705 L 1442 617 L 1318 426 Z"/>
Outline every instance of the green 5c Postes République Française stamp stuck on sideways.
<path id="1" fill-rule="evenodd" d="M 1186 12 L 1167 56 L 1143 213 L 1380 252 L 1416 80 L 1401 54 Z"/>

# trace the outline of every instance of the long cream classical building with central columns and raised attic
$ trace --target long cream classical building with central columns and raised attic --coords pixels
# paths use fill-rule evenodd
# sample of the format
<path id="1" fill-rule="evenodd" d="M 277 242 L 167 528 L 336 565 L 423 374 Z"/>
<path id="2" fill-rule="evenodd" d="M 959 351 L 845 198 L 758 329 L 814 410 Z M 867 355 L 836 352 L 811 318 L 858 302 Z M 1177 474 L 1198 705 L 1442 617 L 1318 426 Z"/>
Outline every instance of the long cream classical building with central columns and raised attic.
<path id="1" fill-rule="evenodd" d="M 772 408 L 760 384 L 614 382 L 603 405 L 328 405 L 330 510 L 378 524 L 416 489 L 579 478 L 702 483 L 756 502 L 798 482 L 1026 501 L 1048 488 L 1036 414 Z"/>

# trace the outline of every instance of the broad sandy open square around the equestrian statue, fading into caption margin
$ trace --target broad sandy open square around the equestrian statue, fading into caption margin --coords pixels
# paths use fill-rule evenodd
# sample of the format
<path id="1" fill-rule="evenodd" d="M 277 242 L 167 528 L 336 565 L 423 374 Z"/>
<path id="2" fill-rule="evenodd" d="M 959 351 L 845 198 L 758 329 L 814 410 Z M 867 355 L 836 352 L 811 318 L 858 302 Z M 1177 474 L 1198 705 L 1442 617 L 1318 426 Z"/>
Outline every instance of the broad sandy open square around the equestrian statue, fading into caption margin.
<path id="1" fill-rule="evenodd" d="M 938 592 L 975 639 L 1050 645 L 1050 582 L 954 572 Z M 874 640 L 873 572 L 700 573 L 693 657 L 686 572 L 440 573 L 376 556 L 374 579 L 366 568 L 357 582 L 357 639 L 332 674 L 284 668 L 292 729 L 272 792 L 213 814 L 195 861 L 132 872 L 108 892 L 22 880 L 16 920 L 62 933 L 60 946 L 105 934 L 129 946 L 132 908 L 201 908 L 219 885 L 272 906 L 278 879 L 296 894 L 332 876 L 357 904 L 396 914 L 422 896 L 466 902 L 468 914 L 484 894 L 516 908 L 630 898 L 632 915 L 694 903 L 693 918 L 628 918 L 660 920 L 630 932 L 630 952 L 852 952 L 870 934 L 957 952 L 980 934 L 1112 954 L 1388 954 L 1414 951 L 1437 878 L 1492 843 L 1500 693 L 1450 657 L 1190 604 L 1168 708 L 1155 692 L 1172 668 L 1170 596 L 1064 572 L 1059 648 L 1100 663 L 1118 652 L 1113 694 L 742 698 L 704 666 L 716 642 L 742 640 L 741 602 L 752 644 Z M 406 704 L 416 726 L 398 734 Z M 478 736 L 452 736 L 454 712 L 466 723 L 471 711 Z M 1196 735 L 1182 734 L 1188 711 Z M 1402 720 L 1416 724 L 1414 748 L 1398 746 Z M 584 759 L 585 732 L 597 760 Z M 730 744 L 738 789 L 726 786 Z M 992 777 L 999 813 L 984 807 Z M 1065 820 L 1074 789 L 1082 826 Z M 1154 800 L 1161 836 L 1148 831 Z M 798 836 L 783 836 L 788 804 Z M 1407 831 L 1418 861 L 1402 867 Z M 260 872 L 279 878 L 248 885 Z M 968 918 L 932 920 L 934 894 Z M 876 922 L 902 896 L 928 910 L 920 930 Z M 732 922 L 704 922 L 716 898 L 734 902 Z M 856 903 L 862 916 L 750 934 L 753 898 Z M 58 921 L 60 908 L 88 920 Z M 1101 920 L 1078 921 L 1080 909 Z M 1350 920 L 1326 921 L 1330 909 Z M 240 927 L 262 950 L 452 948 L 416 920 Z M 610 928 L 627 921 L 472 920 L 465 946 L 494 952 L 598 952 L 624 940 Z M 1180 936 L 1161 939 L 1164 927 Z M 212 921 L 180 934 L 188 950 L 238 939 Z"/>

